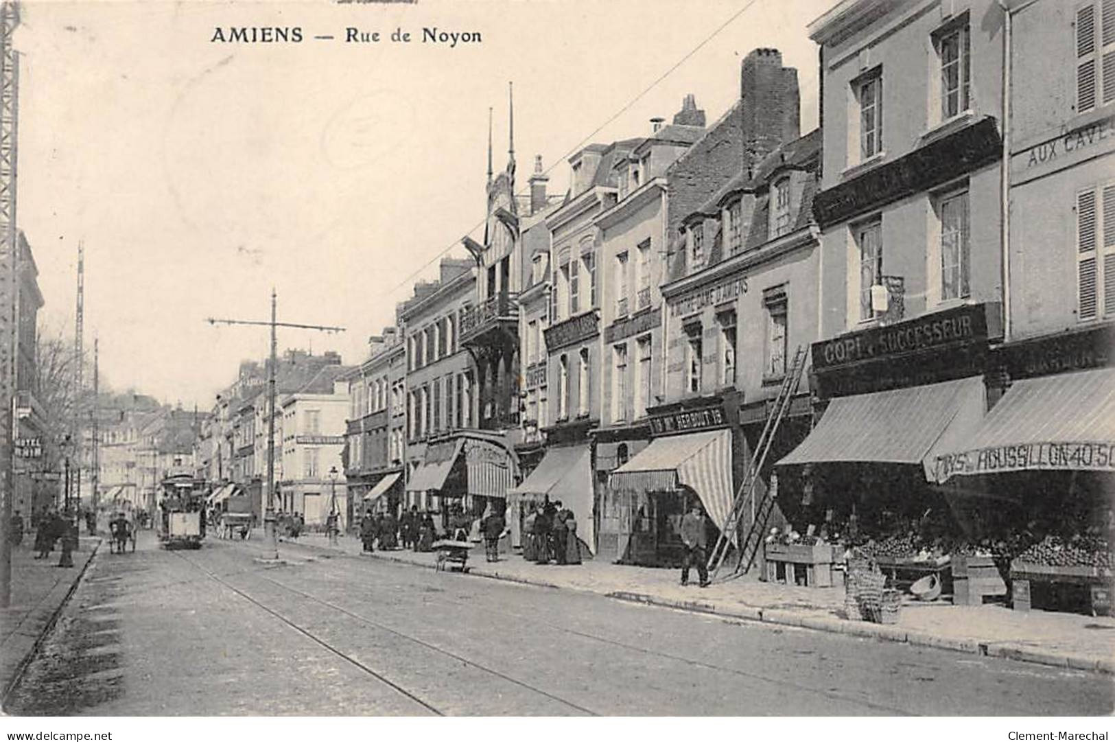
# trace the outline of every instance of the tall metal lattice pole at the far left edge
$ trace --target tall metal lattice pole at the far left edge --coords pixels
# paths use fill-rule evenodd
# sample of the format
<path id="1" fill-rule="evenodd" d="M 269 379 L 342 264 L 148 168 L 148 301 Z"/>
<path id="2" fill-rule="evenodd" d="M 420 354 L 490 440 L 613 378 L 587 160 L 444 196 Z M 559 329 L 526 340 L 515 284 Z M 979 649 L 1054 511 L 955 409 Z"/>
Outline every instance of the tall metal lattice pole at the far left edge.
<path id="1" fill-rule="evenodd" d="M 16 495 L 16 354 L 19 252 L 16 228 L 16 142 L 19 55 L 12 45 L 19 6 L 0 3 L 0 608 L 11 605 L 11 523 Z"/>

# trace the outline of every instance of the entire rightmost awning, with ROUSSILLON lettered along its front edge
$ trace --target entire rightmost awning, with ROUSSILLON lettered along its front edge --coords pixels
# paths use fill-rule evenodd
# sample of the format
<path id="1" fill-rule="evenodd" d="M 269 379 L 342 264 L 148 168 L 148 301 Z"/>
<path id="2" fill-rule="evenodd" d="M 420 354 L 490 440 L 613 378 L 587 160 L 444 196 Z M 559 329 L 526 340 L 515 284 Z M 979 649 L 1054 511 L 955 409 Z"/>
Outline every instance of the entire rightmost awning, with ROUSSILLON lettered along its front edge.
<path id="1" fill-rule="evenodd" d="M 1115 368 L 1027 378 L 935 460 L 937 481 L 1026 470 L 1115 471 Z"/>

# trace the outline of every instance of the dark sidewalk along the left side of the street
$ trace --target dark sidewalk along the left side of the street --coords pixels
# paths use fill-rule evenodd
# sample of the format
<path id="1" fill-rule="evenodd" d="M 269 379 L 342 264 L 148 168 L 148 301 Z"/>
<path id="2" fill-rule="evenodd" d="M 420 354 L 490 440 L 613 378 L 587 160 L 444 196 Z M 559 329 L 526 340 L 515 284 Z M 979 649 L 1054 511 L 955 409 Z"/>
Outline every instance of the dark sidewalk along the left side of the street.
<path id="1" fill-rule="evenodd" d="M 99 538 L 80 537 L 74 567 L 56 567 L 60 551 L 35 559 L 31 538 L 11 551 L 11 605 L 0 609 L 0 698 L 7 697 L 93 560 Z"/>

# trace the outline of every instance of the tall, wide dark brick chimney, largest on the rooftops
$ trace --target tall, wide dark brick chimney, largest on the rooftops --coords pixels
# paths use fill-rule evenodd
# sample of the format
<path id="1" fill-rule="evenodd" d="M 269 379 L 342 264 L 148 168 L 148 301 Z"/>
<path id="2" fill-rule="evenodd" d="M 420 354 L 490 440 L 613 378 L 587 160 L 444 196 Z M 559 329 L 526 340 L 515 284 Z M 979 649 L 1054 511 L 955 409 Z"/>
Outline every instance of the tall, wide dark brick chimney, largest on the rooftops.
<path id="1" fill-rule="evenodd" d="M 739 89 L 745 165 L 754 167 L 802 134 L 797 70 L 782 66 L 777 49 L 755 49 L 740 66 Z"/>

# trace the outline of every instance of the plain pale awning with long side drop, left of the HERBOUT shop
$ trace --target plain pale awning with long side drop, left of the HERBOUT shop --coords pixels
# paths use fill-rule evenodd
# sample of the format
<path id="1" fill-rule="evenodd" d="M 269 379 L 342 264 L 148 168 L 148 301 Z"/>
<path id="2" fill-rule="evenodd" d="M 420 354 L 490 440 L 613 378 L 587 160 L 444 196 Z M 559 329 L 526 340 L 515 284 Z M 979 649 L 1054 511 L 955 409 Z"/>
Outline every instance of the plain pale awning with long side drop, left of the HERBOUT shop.
<path id="1" fill-rule="evenodd" d="M 592 453 L 588 445 L 573 445 L 546 451 L 546 455 L 522 484 L 507 490 L 508 498 L 549 495 L 573 511 L 578 536 L 590 549 L 595 549 L 597 534 L 592 518 Z"/>

